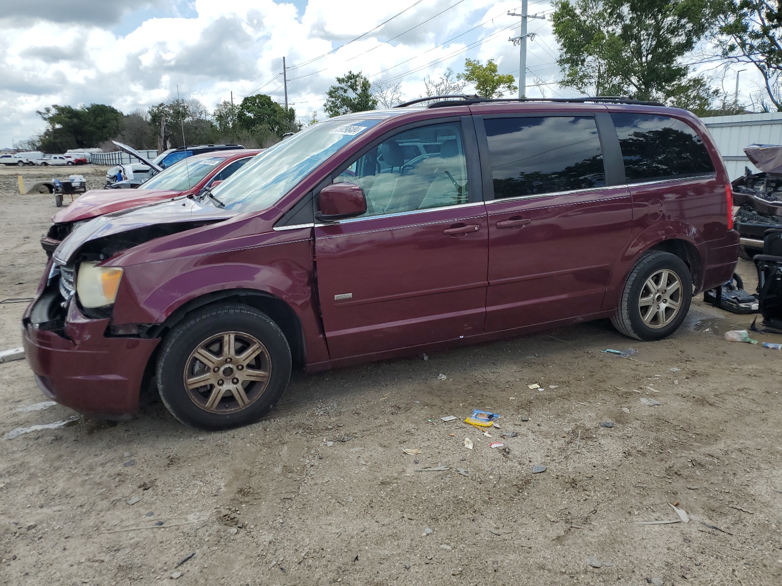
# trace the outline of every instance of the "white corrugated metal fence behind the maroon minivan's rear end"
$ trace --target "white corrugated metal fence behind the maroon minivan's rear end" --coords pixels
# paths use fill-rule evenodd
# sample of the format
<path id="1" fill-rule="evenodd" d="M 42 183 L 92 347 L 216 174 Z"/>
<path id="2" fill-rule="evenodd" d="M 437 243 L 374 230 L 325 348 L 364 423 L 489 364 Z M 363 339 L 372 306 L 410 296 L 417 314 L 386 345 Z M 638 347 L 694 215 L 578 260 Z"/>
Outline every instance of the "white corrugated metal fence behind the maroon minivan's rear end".
<path id="1" fill-rule="evenodd" d="M 730 180 L 741 177 L 745 166 L 752 173 L 759 172 L 744 155 L 745 146 L 753 143 L 782 145 L 782 112 L 711 116 L 701 120 L 712 133 L 719 154 L 723 155 Z"/>

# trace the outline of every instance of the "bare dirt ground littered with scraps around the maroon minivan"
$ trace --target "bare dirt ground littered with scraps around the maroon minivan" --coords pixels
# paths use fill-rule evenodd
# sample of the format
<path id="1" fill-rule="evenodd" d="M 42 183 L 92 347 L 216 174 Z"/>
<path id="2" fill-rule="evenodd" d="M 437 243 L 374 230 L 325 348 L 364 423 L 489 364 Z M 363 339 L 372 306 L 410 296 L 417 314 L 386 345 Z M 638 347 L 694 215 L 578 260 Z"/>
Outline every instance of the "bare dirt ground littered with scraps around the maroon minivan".
<path id="1" fill-rule="evenodd" d="M 0 298 L 33 295 L 56 211 L 15 175 Z M 0 349 L 23 309 L 0 303 Z M 698 300 L 665 341 L 600 321 L 296 376 L 235 431 L 183 427 L 150 394 L 128 423 L 0 440 L 0 583 L 780 584 L 782 353 L 722 338 L 750 321 Z M 4 437 L 74 416 L 24 410 L 46 400 L 24 361 L 0 389 Z M 474 408 L 500 413 L 492 438 L 461 422 Z M 689 523 L 639 523 L 676 502 Z"/>

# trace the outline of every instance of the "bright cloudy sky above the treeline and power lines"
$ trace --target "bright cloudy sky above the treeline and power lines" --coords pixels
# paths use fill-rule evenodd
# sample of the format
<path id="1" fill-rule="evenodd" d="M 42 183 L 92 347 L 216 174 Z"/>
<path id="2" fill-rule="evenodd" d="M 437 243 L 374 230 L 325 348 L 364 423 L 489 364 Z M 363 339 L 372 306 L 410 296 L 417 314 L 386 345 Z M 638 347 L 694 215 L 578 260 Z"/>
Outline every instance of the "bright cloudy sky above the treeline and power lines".
<path id="1" fill-rule="evenodd" d="M 52 104 L 131 113 L 178 92 L 210 111 L 231 92 L 235 102 L 264 93 L 282 103 L 283 56 L 289 104 L 302 119 L 325 118 L 325 92 L 349 70 L 400 83 L 408 99 L 424 94 L 425 76 L 459 72 L 467 57 L 494 59 L 500 73 L 518 79 L 518 47 L 508 39 L 519 19 L 507 13 L 520 9 L 521 0 L 3 2 L 0 148 L 41 133 L 36 111 Z M 551 15 L 549 0 L 530 0 L 529 13 Z M 527 95 L 575 95 L 556 84 L 551 23 L 530 20 L 528 30 L 536 36 L 528 45 Z"/>

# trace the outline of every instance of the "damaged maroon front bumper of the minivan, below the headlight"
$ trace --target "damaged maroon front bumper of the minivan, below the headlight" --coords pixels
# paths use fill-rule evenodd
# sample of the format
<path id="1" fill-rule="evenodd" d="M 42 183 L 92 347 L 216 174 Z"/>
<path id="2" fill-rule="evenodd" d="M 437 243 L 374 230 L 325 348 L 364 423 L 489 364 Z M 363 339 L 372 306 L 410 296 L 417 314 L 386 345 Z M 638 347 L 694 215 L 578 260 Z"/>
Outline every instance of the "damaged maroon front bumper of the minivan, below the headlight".
<path id="1" fill-rule="evenodd" d="M 50 284 L 22 318 L 23 345 L 38 387 L 84 415 L 109 420 L 138 412 L 145 368 L 160 339 L 107 336 L 109 319 L 84 316 Z"/>

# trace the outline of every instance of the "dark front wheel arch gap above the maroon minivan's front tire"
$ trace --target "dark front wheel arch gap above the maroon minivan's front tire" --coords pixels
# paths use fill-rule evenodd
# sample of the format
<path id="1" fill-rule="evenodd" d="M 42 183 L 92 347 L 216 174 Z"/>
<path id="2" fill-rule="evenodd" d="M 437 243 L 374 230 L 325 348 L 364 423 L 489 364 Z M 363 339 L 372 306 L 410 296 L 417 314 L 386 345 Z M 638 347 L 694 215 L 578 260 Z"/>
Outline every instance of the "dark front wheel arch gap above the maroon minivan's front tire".
<path id="1" fill-rule="evenodd" d="M 269 316 L 282 330 L 282 333 L 285 334 L 285 338 L 288 340 L 288 345 L 291 348 L 293 364 L 303 367 L 307 363 L 304 329 L 300 317 L 283 299 L 266 291 L 258 291 L 256 289 L 213 291 L 192 298 L 177 309 L 174 309 L 163 323 L 157 324 L 147 335 L 152 338 L 163 338 L 172 327 L 185 319 L 185 316 L 189 313 L 206 306 L 226 302 L 241 303 Z"/>

